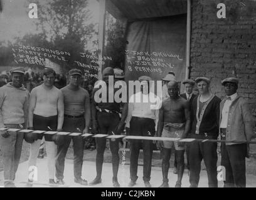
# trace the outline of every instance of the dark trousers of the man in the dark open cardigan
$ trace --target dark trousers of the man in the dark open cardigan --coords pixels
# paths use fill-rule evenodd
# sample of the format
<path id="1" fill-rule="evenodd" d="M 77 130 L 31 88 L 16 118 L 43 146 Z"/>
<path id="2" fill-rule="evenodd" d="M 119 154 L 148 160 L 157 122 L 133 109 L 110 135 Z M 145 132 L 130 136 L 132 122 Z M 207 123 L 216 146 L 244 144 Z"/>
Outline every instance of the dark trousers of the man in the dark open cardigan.
<path id="1" fill-rule="evenodd" d="M 191 138 L 216 139 L 216 136 L 191 134 Z M 205 161 L 208 175 L 208 186 L 218 187 L 217 181 L 217 144 L 212 142 L 193 141 L 189 145 L 189 182 L 191 187 L 198 187 L 201 171 L 201 161 Z"/>

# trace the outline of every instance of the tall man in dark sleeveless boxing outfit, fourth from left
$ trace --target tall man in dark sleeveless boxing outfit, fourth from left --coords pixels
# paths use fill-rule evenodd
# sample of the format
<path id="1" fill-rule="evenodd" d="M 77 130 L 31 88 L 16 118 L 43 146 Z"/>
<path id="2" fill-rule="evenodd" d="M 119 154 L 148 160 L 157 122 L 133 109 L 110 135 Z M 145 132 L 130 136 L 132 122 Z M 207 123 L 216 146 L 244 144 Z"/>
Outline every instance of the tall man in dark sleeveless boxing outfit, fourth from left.
<path id="1" fill-rule="evenodd" d="M 125 118 L 127 116 L 127 103 L 115 101 L 115 93 L 118 91 L 114 88 L 114 70 L 113 68 L 105 68 L 102 72 L 103 81 L 95 83 L 95 88 L 92 93 L 92 133 L 120 135 L 124 130 Z M 107 93 L 105 98 L 102 93 L 102 88 L 105 87 Z M 99 95 L 102 96 L 102 101 Z M 100 101 L 99 101 L 100 100 Z M 123 106 L 122 113 L 120 107 Z M 104 151 L 106 147 L 105 138 L 96 138 L 96 178 L 90 182 L 90 185 L 99 184 L 102 182 L 102 164 L 104 161 Z M 112 154 L 112 183 L 114 187 L 120 187 L 117 180 L 119 169 L 119 139 L 110 140 L 110 151 Z"/>

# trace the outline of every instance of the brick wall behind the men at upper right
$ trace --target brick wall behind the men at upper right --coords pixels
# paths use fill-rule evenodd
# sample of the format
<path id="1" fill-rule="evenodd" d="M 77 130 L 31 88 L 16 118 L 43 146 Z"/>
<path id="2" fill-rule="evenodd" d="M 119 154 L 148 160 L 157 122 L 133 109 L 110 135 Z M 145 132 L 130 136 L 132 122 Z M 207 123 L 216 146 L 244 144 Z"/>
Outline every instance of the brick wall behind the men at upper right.
<path id="1" fill-rule="evenodd" d="M 226 19 L 216 16 L 220 2 L 226 5 Z M 210 78 L 211 91 L 221 98 L 221 79 L 237 76 L 238 93 L 256 116 L 255 0 L 192 0 L 191 66 L 191 78 Z"/>

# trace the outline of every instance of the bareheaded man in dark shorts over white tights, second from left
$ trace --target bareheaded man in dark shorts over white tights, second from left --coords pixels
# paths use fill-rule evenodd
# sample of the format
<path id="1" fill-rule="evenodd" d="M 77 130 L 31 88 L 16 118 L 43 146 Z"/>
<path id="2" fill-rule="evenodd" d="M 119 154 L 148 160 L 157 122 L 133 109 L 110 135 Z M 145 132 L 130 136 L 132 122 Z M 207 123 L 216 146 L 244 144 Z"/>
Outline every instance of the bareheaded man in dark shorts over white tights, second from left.
<path id="1" fill-rule="evenodd" d="M 41 131 L 61 131 L 64 119 L 63 94 L 53 86 L 55 71 L 45 68 L 43 84 L 31 91 L 28 108 L 29 129 Z M 29 166 L 36 165 L 36 158 L 40 149 L 43 134 L 37 134 L 37 140 L 31 143 Z M 45 134 L 46 153 L 48 159 L 49 183 L 55 184 L 55 158 L 57 146 L 51 134 Z M 31 180 L 29 180 L 31 181 Z"/>

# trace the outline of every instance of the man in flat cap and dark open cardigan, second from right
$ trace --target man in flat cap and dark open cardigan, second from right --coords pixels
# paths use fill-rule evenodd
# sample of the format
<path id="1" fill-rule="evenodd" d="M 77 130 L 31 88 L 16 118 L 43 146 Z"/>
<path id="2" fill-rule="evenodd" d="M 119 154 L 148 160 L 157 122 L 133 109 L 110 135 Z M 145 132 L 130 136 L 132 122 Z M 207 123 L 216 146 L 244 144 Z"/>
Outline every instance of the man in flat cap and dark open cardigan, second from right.
<path id="1" fill-rule="evenodd" d="M 195 139 L 217 139 L 220 118 L 220 98 L 211 94 L 210 79 L 196 78 L 199 96 L 191 104 L 191 136 Z M 217 144 L 192 141 L 189 145 L 189 182 L 190 187 L 198 187 L 201 161 L 205 161 L 208 186 L 218 187 L 217 181 Z"/>

